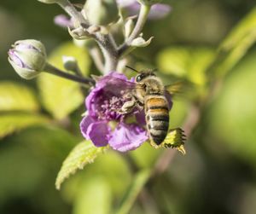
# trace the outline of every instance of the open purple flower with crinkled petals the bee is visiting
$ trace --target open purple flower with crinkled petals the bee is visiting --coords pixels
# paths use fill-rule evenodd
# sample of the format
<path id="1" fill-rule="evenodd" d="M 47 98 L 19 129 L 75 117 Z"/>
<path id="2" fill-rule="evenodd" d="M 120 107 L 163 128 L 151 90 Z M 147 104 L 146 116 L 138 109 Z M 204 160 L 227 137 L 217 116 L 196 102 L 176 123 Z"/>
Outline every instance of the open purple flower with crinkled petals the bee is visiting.
<path id="1" fill-rule="evenodd" d="M 129 114 L 119 113 L 125 101 L 129 100 L 125 94 L 132 86 L 133 83 L 124 74 L 110 72 L 97 81 L 96 87 L 87 96 L 85 105 L 88 115 L 82 119 L 80 129 L 96 147 L 109 144 L 113 149 L 126 152 L 148 140 L 143 124 L 126 122 L 128 117 L 134 115 L 141 118 L 143 112 L 135 109 Z"/>

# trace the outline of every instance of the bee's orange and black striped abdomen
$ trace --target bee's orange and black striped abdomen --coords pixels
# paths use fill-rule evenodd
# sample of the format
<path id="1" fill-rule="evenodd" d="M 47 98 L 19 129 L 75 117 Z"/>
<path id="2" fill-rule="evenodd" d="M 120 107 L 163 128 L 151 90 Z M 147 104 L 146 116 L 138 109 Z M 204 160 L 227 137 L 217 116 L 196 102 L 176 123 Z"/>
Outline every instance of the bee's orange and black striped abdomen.
<path id="1" fill-rule="evenodd" d="M 160 145 L 166 138 L 169 128 L 169 109 L 164 95 L 145 97 L 147 128 L 151 139 Z"/>

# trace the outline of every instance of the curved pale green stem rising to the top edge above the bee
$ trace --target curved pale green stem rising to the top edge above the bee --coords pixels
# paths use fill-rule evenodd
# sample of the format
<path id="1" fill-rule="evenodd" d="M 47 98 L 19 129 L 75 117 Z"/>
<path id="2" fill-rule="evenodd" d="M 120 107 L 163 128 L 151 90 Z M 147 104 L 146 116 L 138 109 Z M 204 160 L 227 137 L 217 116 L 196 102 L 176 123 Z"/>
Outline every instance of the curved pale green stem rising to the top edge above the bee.
<path id="1" fill-rule="evenodd" d="M 132 40 L 137 38 L 137 36 L 142 32 L 143 26 L 145 25 L 146 20 L 148 19 L 148 13 L 150 11 L 150 8 L 151 8 L 150 5 L 141 4 L 141 9 L 138 15 L 136 26 L 131 32 L 130 37 L 125 40 L 125 43 L 119 46 L 119 49 L 118 49 L 119 55 L 123 55 L 125 50 L 129 48 L 129 45 L 131 44 Z"/>

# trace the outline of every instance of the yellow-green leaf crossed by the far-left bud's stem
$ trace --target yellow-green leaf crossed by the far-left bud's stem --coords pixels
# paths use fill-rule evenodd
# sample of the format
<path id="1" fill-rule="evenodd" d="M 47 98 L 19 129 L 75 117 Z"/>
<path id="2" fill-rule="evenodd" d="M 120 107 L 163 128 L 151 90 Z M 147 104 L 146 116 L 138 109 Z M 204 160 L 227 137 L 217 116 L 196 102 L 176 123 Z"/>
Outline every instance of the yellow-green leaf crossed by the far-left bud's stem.
<path id="1" fill-rule="evenodd" d="M 88 74 L 90 60 L 84 49 L 76 47 L 73 43 L 64 43 L 50 55 L 50 64 L 64 69 L 62 55 L 75 57 L 82 72 Z M 38 77 L 38 87 L 44 107 L 55 119 L 67 117 L 69 113 L 72 113 L 84 102 L 84 95 L 80 90 L 79 84 L 49 73 L 42 73 Z"/>

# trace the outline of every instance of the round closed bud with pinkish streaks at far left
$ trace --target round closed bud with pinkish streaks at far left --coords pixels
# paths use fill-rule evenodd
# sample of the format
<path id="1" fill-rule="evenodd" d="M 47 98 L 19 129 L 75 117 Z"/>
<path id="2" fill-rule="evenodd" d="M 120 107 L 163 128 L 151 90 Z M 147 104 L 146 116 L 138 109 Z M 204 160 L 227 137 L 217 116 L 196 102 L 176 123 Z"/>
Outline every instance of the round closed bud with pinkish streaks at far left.
<path id="1" fill-rule="evenodd" d="M 15 42 L 8 55 L 9 63 L 21 78 L 35 78 L 46 64 L 44 44 L 33 39 Z"/>

